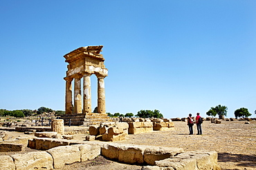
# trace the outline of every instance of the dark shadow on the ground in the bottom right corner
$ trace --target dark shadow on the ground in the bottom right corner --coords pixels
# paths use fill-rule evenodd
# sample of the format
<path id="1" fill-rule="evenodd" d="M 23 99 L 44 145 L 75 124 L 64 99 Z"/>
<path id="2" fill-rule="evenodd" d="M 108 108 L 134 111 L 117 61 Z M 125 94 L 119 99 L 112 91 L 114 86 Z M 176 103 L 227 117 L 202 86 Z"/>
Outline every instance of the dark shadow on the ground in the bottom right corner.
<path id="1" fill-rule="evenodd" d="M 256 155 L 218 153 L 218 162 L 235 162 L 238 167 L 256 169 Z"/>

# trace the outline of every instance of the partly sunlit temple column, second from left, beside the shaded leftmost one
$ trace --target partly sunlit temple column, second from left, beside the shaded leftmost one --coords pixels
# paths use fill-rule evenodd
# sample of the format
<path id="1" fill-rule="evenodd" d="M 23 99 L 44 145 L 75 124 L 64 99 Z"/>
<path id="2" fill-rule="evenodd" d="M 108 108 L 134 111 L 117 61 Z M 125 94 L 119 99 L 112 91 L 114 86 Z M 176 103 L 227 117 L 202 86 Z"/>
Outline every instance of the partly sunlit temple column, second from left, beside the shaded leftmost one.
<path id="1" fill-rule="evenodd" d="M 74 114 L 82 114 L 81 76 L 75 78 Z"/>

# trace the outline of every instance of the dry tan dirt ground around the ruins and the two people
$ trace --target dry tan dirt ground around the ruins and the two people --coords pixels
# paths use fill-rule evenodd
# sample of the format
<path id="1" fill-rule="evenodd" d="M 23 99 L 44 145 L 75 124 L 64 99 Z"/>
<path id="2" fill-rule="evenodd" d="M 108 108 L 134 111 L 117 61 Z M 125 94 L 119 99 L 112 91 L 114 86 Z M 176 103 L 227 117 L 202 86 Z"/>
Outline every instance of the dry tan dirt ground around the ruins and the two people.
<path id="1" fill-rule="evenodd" d="M 129 135 L 126 140 L 119 142 L 134 145 L 181 147 L 185 151 L 217 151 L 221 169 L 253 170 L 256 169 L 256 121 L 250 121 L 250 124 L 245 123 L 246 121 L 222 121 L 221 124 L 213 124 L 205 121 L 202 124 L 203 135 L 196 135 L 196 125 L 194 125 L 194 135 L 188 135 L 188 126 L 185 122 L 174 122 L 175 129 L 172 131 L 152 131 L 145 134 Z M 21 134 L 10 131 L 8 135 L 15 138 Z M 77 135 L 75 139 L 84 140 L 84 135 Z M 26 149 L 26 151 L 31 150 Z M 0 152 L 1 154 L 5 153 Z M 98 156 L 88 162 L 67 164 L 62 169 L 117 170 L 141 169 L 141 166 L 121 164 Z"/>

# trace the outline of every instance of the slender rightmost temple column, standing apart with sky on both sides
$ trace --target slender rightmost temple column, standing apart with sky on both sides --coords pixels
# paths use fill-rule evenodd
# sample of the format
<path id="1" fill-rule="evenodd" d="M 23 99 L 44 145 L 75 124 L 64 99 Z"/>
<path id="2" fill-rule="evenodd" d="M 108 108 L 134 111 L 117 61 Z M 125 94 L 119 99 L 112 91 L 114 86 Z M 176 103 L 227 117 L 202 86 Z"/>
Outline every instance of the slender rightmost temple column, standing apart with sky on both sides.
<path id="1" fill-rule="evenodd" d="M 105 76 L 97 76 L 98 78 L 98 113 L 106 113 L 105 107 L 105 87 L 104 78 Z"/>

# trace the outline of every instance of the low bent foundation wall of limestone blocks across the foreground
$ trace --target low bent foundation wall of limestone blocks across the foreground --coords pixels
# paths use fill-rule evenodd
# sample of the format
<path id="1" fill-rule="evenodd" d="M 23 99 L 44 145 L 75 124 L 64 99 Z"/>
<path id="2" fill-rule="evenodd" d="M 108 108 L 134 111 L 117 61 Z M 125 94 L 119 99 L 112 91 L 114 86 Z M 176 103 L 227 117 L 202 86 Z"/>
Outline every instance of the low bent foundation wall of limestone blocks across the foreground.
<path id="1" fill-rule="evenodd" d="M 48 147 L 58 141 L 47 139 Z M 35 146 L 41 139 L 34 141 Z M 60 142 L 60 141 L 59 141 Z M 51 146 L 50 146 L 50 143 Z M 45 143 L 47 145 L 47 143 Z M 62 141 L 64 144 L 64 140 Z M 56 144 L 57 145 L 57 144 Z M 55 146 L 56 146 L 55 145 Z M 70 146 L 71 145 L 71 146 Z M 147 164 L 142 169 L 219 170 L 217 152 L 190 151 L 181 148 L 154 147 L 147 145 L 123 145 L 108 142 L 66 143 L 48 151 L 0 156 L 1 169 L 56 169 L 64 164 L 92 160 L 98 155 L 128 164 Z"/>

